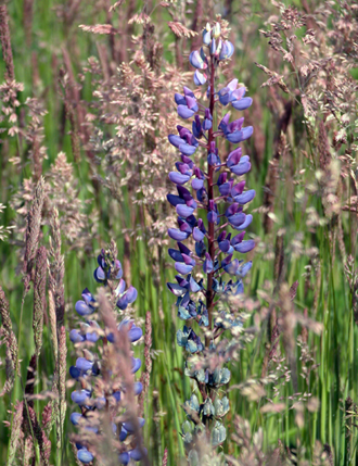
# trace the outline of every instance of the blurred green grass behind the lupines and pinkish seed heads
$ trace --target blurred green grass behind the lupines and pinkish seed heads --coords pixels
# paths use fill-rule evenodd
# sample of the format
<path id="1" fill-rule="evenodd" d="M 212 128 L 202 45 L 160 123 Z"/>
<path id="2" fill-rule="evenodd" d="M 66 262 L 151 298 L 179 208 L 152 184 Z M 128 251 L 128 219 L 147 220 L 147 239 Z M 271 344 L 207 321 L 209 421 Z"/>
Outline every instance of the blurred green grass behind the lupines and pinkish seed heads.
<path id="1" fill-rule="evenodd" d="M 57 7 L 66 8 L 66 2 L 48 0 L 47 2 L 34 2 L 34 20 L 33 20 L 33 39 L 30 45 L 25 40 L 23 26 L 23 1 L 12 0 L 9 3 L 11 39 L 14 54 L 16 80 L 24 83 L 24 92 L 21 95 L 21 101 L 24 102 L 27 97 L 38 97 L 44 103 L 48 114 L 44 117 L 44 143 L 48 148 L 48 159 L 43 162 L 43 172 L 46 173 L 53 163 L 55 155 L 60 150 L 66 152 L 67 160 L 74 163 L 71 138 L 67 135 L 68 123 L 65 126 L 64 137 L 61 137 L 59 128 L 62 126 L 63 103 L 56 92 L 54 83 L 57 79 L 57 70 L 52 66 L 53 58 L 59 62 L 62 61 L 61 47 L 68 47 L 75 42 L 76 50 L 72 50 L 74 72 L 80 71 L 88 56 L 97 54 L 97 48 L 91 35 L 85 34 L 77 28 L 80 23 L 86 23 L 86 20 L 92 23 L 90 11 L 92 4 L 88 5 L 88 12 L 85 14 L 85 20 L 78 21 L 71 29 L 66 29 L 61 18 L 56 13 Z M 277 122 L 272 118 L 272 114 L 265 102 L 268 99 L 268 90 L 260 88 L 260 84 L 265 80 L 263 73 L 256 68 L 254 61 L 267 64 L 267 40 L 259 36 L 258 29 L 264 27 L 264 20 L 267 12 L 263 11 L 263 4 L 252 2 L 251 10 L 244 4 L 244 14 L 247 23 L 256 30 L 250 37 L 253 39 L 250 43 L 242 41 L 240 32 L 236 33 L 236 52 L 234 58 L 233 73 L 240 77 L 240 80 L 248 87 L 248 95 L 261 103 L 261 118 L 256 122 L 265 135 L 265 147 L 260 165 L 253 165 L 253 169 L 247 177 L 247 186 L 256 189 L 257 196 L 252 203 L 252 209 L 257 209 L 263 204 L 264 186 L 269 167 L 269 161 L 273 156 L 273 135 Z M 233 2 L 233 12 L 240 14 L 240 2 Z M 138 10 L 140 4 L 138 4 Z M 217 12 L 223 12 L 225 5 L 217 2 L 215 5 Z M 205 14 L 205 10 L 204 10 Z M 233 25 L 235 27 L 235 16 L 233 14 Z M 162 20 L 168 20 L 166 13 L 159 13 L 157 10 L 153 14 L 154 23 Z M 105 22 L 104 14 L 99 14 L 95 22 Z M 104 39 L 100 39 L 104 40 Z M 166 33 L 165 40 L 168 45 L 171 40 L 170 35 Z M 166 48 L 166 43 L 164 43 Z M 36 52 L 38 62 L 39 81 L 34 86 L 34 63 L 31 54 Z M 174 60 L 166 52 L 168 60 Z M 3 63 L 0 63 L 0 75 L 3 75 Z M 90 99 L 90 84 L 85 84 L 81 97 Z M 295 122 L 299 122 L 301 115 L 294 116 Z M 298 290 L 295 298 L 297 312 L 307 310 L 308 316 L 323 324 L 323 332 L 321 336 L 316 336 L 309 332 L 308 345 L 315 362 L 319 365 L 309 377 L 307 385 L 302 377 L 298 377 L 298 391 L 311 393 L 320 401 L 320 407 L 316 413 L 304 412 L 304 424 L 298 427 L 295 423 L 295 412 L 292 410 L 292 402 L 285 400 L 286 410 L 280 414 L 263 415 L 259 411 L 264 400 L 247 401 L 239 390 L 230 392 L 231 414 L 240 414 L 247 418 L 253 431 L 263 428 L 265 450 L 273 449 L 278 444 L 278 440 L 282 440 L 285 445 L 293 449 L 298 446 L 298 443 L 306 449 L 306 457 L 312 457 L 315 441 L 319 440 L 322 444 L 328 443 L 334 451 L 336 465 L 355 464 L 357 433 L 351 430 L 351 436 L 347 437 L 346 430 L 346 414 L 345 400 L 350 396 L 354 402 L 357 402 L 357 326 L 353 318 L 351 293 L 344 275 L 344 264 L 340 252 L 336 249 L 333 252 L 333 242 L 330 234 L 332 225 L 319 226 L 315 229 L 307 226 L 309 221 L 309 207 L 315 207 L 318 214 L 323 217 L 323 209 L 320 197 L 317 192 L 307 194 L 306 203 L 302 202 L 302 193 L 307 193 L 305 187 L 315 181 L 315 166 L 303 155 L 298 147 L 295 147 L 297 137 L 305 133 L 302 129 L 292 127 L 289 131 L 289 143 L 292 152 L 290 160 L 280 161 L 280 171 L 278 179 L 278 190 L 274 203 L 276 222 L 272 231 L 267 235 L 263 227 L 263 215 L 256 213 L 251 231 L 255 237 L 259 238 L 259 243 L 254 256 L 254 265 L 247 278 L 246 292 L 253 298 L 260 294 L 257 290 L 269 289 L 272 291 L 274 281 L 274 241 L 280 229 L 284 228 L 284 279 L 289 285 L 298 280 Z M 307 144 L 306 144 L 307 146 Z M 301 143 L 302 147 L 302 143 Z M 308 146 L 307 146 L 308 147 Z M 1 150 L 1 202 L 9 205 L 11 197 L 16 192 L 24 178 L 30 176 L 31 165 L 27 164 L 24 169 L 18 171 L 16 166 L 9 163 L 9 158 L 16 154 L 15 141 L 10 141 L 9 146 L 2 144 Z M 26 154 L 24 154 L 26 159 Z M 89 201 L 86 209 L 88 215 L 98 203 L 101 204 L 102 217 L 100 218 L 99 236 L 93 238 L 93 253 L 79 257 L 77 251 L 72 251 L 68 247 L 64 247 L 65 255 L 65 298 L 66 298 L 66 328 L 72 328 L 74 322 L 74 303 L 79 299 L 80 292 L 85 287 L 94 290 L 94 280 L 92 270 L 95 267 L 95 257 L 99 249 L 110 240 L 111 231 L 113 231 L 113 221 L 111 221 L 111 212 L 107 211 L 108 192 L 101 190 L 98 199 L 93 199 L 91 180 L 89 178 L 88 160 L 82 156 L 81 161 L 76 164 L 75 173 L 80 179 L 79 198 L 84 201 Z M 290 173 L 293 175 L 290 177 Z M 292 182 L 293 180 L 297 182 Z M 120 225 L 128 225 L 131 221 L 131 206 L 124 206 L 123 212 L 126 215 L 125 221 L 118 222 L 115 230 L 115 240 L 118 244 L 122 259 L 124 255 L 124 242 L 120 231 Z M 15 216 L 15 212 L 9 206 L 1 215 L 1 223 L 9 225 Z M 353 254 L 356 259 L 356 229 L 355 222 L 349 217 L 348 213 L 342 215 L 343 227 L 345 231 L 345 242 L 348 254 Z M 48 230 L 43 230 L 44 241 L 48 241 Z M 312 289 L 305 288 L 304 274 L 307 272 L 306 266 L 309 264 L 307 254 L 296 254 L 295 245 L 297 239 L 302 248 L 318 249 L 318 262 L 321 270 L 321 282 L 318 290 L 318 305 L 315 312 L 315 292 L 317 291 L 317 276 L 314 274 L 310 278 Z M 190 379 L 183 377 L 183 357 L 182 351 L 176 343 L 176 330 L 181 325 L 176 317 L 174 308 L 172 295 L 166 289 L 166 281 L 174 276 L 172 269 L 165 266 L 165 260 L 161 264 L 161 277 L 153 276 L 153 257 L 151 250 L 143 242 L 131 243 L 131 275 L 132 285 L 139 291 L 139 299 L 136 303 L 138 316 L 144 317 L 145 312 L 151 310 L 153 322 L 153 349 L 157 352 L 153 361 L 153 371 L 151 376 L 151 389 L 145 405 L 146 424 L 144 427 L 145 443 L 149 446 L 151 461 L 153 465 L 159 464 L 159 458 L 163 456 L 164 449 L 168 449 L 169 463 L 178 464 L 179 455 L 183 455 L 183 446 L 180 440 L 180 424 L 184 420 L 184 414 L 180 405 L 191 393 Z M 21 276 L 16 275 L 16 266 L 18 263 L 18 247 L 11 244 L 9 241 L 0 243 L 0 281 L 10 300 L 11 316 L 14 324 L 15 335 L 18 332 L 20 319 L 20 301 L 22 295 Z M 157 284 L 159 282 L 159 286 Z M 23 361 L 22 370 L 25 377 L 26 365 L 34 351 L 34 342 L 31 331 L 31 294 L 25 302 L 24 320 L 21 335 L 21 360 Z M 263 305 L 266 304 L 264 299 L 260 299 Z M 254 317 L 250 319 L 247 325 L 254 324 Z M 298 326 L 295 329 L 296 336 L 302 331 Z M 255 339 L 240 354 L 240 361 L 232 363 L 232 385 L 238 385 L 245 381 L 247 377 L 259 376 L 263 367 L 263 361 L 266 351 L 267 331 L 263 325 Z M 48 329 L 44 328 L 43 348 L 39 362 L 39 385 L 38 390 L 49 386 L 53 374 L 54 361 L 51 357 L 50 339 L 48 338 Z M 136 350 L 140 354 L 140 347 Z M 1 356 L 4 350 L 1 349 Z M 296 352 L 298 373 L 301 370 L 299 356 L 301 352 Z M 68 366 L 74 361 L 74 351 L 71 342 L 68 342 Z M 44 373 L 48 377 L 41 378 Z M 1 386 L 5 379 L 4 366 L 0 370 Z M 15 399 L 21 399 L 21 389 L 16 387 L 17 392 Z M 71 413 L 71 391 L 67 391 Z M 281 390 L 282 396 L 293 394 L 292 383 L 284 383 Z M 273 396 L 273 387 L 267 387 L 267 396 Z M 277 400 L 278 401 L 278 400 Z M 5 395 L 0 401 L 0 419 L 9 419 L 10 396 Z M 38 402 L 41 404 L 40 402 Z M 230 417 L 229 416 L 229 417 Z M 65 423 L 65 433 L 68 436 L 73 431 L 68 418 Z M 9 439 L 9 429 L 0 424 L 0 464 L 5 464 L 7 446 Z M 53 439 L 52 439 L 53 440 Z M 348 453 L 348 448 L 350 453 Z M 225 445 L 225 449 L 230 449 L 231 453 L 235 452 L 233 444 Z M 53 452 L 53 462 L 57 464 L 71 465 L 75 464 L 67 443 L 63 445 L 62 459 L 60 456 L 56 459 Z"/>

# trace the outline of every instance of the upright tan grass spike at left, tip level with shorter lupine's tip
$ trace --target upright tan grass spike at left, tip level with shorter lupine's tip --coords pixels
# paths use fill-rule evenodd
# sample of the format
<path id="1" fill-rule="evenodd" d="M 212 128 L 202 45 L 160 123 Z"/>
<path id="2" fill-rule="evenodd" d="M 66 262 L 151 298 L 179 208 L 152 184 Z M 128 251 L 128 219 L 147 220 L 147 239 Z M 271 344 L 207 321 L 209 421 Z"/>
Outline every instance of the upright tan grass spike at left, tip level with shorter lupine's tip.
<path id="1" fill-rule="evenodd" d="M 40 355 L 42 347 L 43 315 L 46 313 L 46 280 L 47 280 L 47 250 L 42 245 L 37 250 L 36 269 L 34 279 L 34 317 L 33 329 L 35 354 Z"/>

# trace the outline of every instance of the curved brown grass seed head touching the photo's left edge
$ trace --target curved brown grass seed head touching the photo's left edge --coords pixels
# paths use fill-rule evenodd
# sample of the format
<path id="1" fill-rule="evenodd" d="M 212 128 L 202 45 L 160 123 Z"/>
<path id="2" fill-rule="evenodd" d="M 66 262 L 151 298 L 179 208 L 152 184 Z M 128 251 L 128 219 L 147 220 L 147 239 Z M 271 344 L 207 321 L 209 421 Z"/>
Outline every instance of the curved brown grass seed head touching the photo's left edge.
<path id="1" fill-rule="evenodd" d="M 7 355 L 5 355 L 5 370 L 7 370 L 7 381 L 1 390 L 0 396 L 3 396 L 5 393 L 9 393 L 15 381 L 15 376 L 17 371 L 17 340 L 15 333 L 12 329 L 12 322 L 10 318 L 9 311 L 9 301 L 5 298 L 5 293 L 0 286 L 0 314 L 1 314 L 1 339 L 7 345 Z"/>

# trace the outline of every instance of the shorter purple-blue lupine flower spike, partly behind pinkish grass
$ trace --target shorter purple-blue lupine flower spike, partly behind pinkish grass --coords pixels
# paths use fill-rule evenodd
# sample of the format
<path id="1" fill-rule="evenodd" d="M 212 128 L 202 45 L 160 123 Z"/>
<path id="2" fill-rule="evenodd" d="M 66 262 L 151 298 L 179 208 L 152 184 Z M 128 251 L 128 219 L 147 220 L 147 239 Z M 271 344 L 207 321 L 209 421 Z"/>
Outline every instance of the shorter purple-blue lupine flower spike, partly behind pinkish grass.
<path id="1" fill-rule="evenodd" d="M 93 274 L 95 280 L 111 290 L 114 306 L 124 311 L 137 299 L 136 288 L 129 287 L 126 290 L 126 282 L 122 278 L 120 262 L 113 259 L 111 248 L 108 251 L 102 250 L 98 256 L 98 263 L 99 267 Z M 115 344 L 116 340 L 122 341 L 127 338 L 130 343 L 133 343 L 142 337 L 142 329 L 128 317 L 124 317 L 114 330 L 102 328 L 98 323 L 98 319 L 101 318 L 101 310 L 87 288 L 82 292 L 82 300 L 77 301 L 75 308 L 81 317 L 86 318 L 79 329 L 69 332 L 71 341 L 82 353 L 82 356 L 78 357 L 76 364 L 69 368 L 71 377 L 80 386 L 71 395 L 79 406 L 80 413 L 72 413 L 71 421 L 85 432 L 82 436 L 85 441 L 81 439 L 76 441 L 77 458 L 84 464 L 92 462 L 95 451 L 91 451 L 91 442 L 86 433 L 95 436 L 101 433 L 101 418 L 93 414 L 104 411 L 110 416 L 114 439 L 117 438 L 123 442 L 118 453 L 119 463 L 127 465 L 130 459 L 139 462 L 146 451 L 136 444 L 136 429 L 143 427 L 145 420 L 140 417 L 132 419 L 126 416 L 123 408 L 123 401 L 126 399 L 126 383 L 123 375 L 116 370 L 116 364 L 111 363 L 110 355 L 111 347 Z M 98 319 L 91 319 L 92 315 L 98 315 L 98 311 L 100 311 Z M 99 345 L 100 342 L 102 347 Z M 131 355 L 129 357 L 130 370 L 131 374 L 135 374 L 141 367 L 141 360 Z M 135 395 L 139 395 L 142 390 L 141 382 L 133 383 Z"/>

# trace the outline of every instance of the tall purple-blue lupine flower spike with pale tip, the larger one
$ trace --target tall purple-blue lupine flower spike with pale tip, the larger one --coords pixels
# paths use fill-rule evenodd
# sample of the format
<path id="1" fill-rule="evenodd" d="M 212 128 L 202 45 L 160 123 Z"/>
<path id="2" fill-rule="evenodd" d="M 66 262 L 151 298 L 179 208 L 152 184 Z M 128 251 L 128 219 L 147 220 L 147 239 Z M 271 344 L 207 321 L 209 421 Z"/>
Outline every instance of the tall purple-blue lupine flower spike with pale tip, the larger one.
<path id="1" fill-rule="evenodd" d="M 231 143 L 242 142 L 252 136 L 253 127 L 243 127 L 243 117 L 230 123 L 230 113 L 227 113 L 214 128 L 217 103 L 231 104 L 235 110 L 252 104 L 252 99 L 244 97 L 245 87 L 239 86 L 238 79 L 219 90 L 215 88 L 220 62 L 228 60 L 233 50 L 232 43 L 221 37 L 220 23 L 214 27 L 206 25 L 203 47 L 193 51 L 189 60 L 196 68 L 195 85 L 208 84 L 204 93 L 208 104 L 201 103 L 196 97 L 199 92 L 188 87 L 183 88 L 182 95 L 176 93 L 178 115 L 183 119 L 192 118 L 192 126 L 188 129 L 178 125 L 178 135 L 168 136 L 169 142 L 180 151 L 180 161 L 176 163 L 177 171 L 169 173 L 177 192 L 167 196 L 178 214 L 178 228 L 168 229 L 169 237 L 178 245 L 168 251 L 178 275 L 176 282 L 167 286 L 177 297 L 178 317 L 186 320 L 183 329 L 177 332 L 177 342 L 189 354 L 215 351 L 215 340 L 222 331 L 242 325 L 230 307 L 216 310 L 219 310 L 219 301 L 228 301 L 229 297 L 243 292 L 242 279 L 252 263 L 239 260 L 234 254 L 247 253 L 255 247 L 254 240 L 244 240 L 245 229 L 253 221 L 253 216 L 244 212 L 244 206 L 254 199 L 255 190 L 246 190 L 245 180 L 235 179 L 251 169 L 250 156 L 243 155 L 239 147 L 221 160 L 217 142 L 219 137 Z M 206 163 L 193 158 L 200 147 L 206 150 Z M 186 240 L 190 241 L 188 245 L 183 243 Z M 196 278 L 199 274 L 204 274 L 205 279 Z M 229 275 L 228 281 L 223 280 L 226 275 Z M 194 322 L 200 327 L 197 330 L 193 328 Z M 199 333 L 205 335 L 205 342 Z M 220 400 L 216 394 L 218 387 L 229 382 L 230 370 L 187 367 L 187 374 L 196 380 L 203 399 L 200 403 L 193 394 L 186 403 L 188 420 L 182 426 L 189 457 L 194 461 L 202 432 L 206 432 L 206 438 L 209 433 L 213 446 L 226 439 L 221 418 L 229 411 L 229 401 L 226 396 Z"/>

